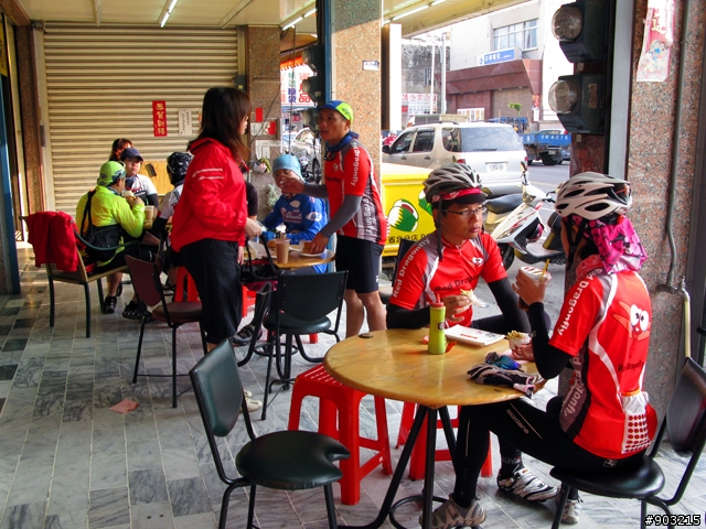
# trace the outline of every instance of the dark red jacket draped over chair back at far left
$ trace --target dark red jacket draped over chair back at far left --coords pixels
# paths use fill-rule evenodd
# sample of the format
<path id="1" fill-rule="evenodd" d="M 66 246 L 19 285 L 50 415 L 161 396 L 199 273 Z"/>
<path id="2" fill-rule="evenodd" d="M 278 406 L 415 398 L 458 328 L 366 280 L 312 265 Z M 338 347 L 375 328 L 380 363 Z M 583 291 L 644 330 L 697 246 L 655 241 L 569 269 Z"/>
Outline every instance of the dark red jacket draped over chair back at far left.
<path id="1" fill-rule="evenodd" d="M 65 272 L 78 268 L 74 219 L 63 212 L 39 212 L 26 217 L 29 241 L 34 247 L 34 264 L 56 264 Z"/>

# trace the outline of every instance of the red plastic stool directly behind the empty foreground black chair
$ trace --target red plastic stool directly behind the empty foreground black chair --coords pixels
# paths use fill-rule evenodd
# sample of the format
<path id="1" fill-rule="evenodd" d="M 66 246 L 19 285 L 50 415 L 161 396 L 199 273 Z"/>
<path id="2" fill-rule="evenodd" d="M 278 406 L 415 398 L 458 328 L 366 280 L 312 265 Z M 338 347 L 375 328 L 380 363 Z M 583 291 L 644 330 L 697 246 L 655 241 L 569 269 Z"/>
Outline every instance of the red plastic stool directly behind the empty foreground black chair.
<path id="1" fill-rule="evenodd" d="M 303 398 L 319 397 L 319 433 L 339 440 L 351 451 L 351 457 L 340 462 L 343 473 L 341 500 L 345 505 L 356 505 L 361 500 L 361 481 L 377 465 L 382 463 L 386 474 L 393 473 L 385 399 L 382 397 L 375 397 L 377 439 L 361 436 L 360 407 L 365 395 L 334 380 L 321 365 L 299 375 L 291 393 L 289 430 L 299 429 Z M 362 466 L 361 447 L 376 451 Z"/>

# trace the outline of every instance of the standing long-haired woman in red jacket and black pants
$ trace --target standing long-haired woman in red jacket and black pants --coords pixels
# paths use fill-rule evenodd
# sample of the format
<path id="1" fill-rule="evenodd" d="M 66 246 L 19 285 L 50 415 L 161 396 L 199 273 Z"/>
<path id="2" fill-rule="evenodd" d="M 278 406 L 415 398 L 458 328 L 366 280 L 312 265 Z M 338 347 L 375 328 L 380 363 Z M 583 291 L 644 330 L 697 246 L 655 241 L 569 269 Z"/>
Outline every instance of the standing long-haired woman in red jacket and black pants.
<path id="1" fill-rule="evenodd" d="M 240 263 L 248 220 L 240 166 L 248 156 L 243 134 L 249 114 L 250 99 L 244 91 L 233 87 L 206 91 L 201 132 L 189 145 L 194 159 L 174 210 L 172 247 L 196 282 L 208 350 L 233 336 L 240 323 Z M 250 235 L 257 236 L 259 226 L 253 225 Z"/>

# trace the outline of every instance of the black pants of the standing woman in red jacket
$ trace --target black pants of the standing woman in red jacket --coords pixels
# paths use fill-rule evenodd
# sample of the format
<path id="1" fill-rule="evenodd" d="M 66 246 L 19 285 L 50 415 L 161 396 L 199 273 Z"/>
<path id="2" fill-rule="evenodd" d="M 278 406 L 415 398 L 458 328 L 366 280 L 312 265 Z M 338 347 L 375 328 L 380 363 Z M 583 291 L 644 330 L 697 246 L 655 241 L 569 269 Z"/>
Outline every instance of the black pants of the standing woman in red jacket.
<path id="1" fill-rule="evenodd" d="M 218 344 L 229 338 L 240 324 L 243 303 L 237 242 L 202 239 L 179 253 L 199 290 L 206 341 Z"/>

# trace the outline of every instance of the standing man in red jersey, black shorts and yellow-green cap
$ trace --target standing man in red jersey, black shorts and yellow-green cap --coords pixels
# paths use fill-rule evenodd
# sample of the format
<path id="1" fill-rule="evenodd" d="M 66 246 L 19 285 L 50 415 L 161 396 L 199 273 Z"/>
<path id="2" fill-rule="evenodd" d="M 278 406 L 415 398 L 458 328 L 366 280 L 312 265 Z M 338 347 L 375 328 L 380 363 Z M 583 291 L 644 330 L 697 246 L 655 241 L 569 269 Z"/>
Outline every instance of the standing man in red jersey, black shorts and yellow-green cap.
<path id="1" fill-rule="evenodd" d="M 385 305 L 379 299 L 379 258 L 387 240 L 387 219 L 373 172 L 373 161 L 351 130 L 353 109 L 344 101 L 319 108 L 319 133 L 325 141 L 324 185 L 304 184 L 296 176 L 282 182 L 284 193 L 328 198 L 331 218 L 311 241 L 312 253 L 325 249 L 338 234 L 336 270 L 347 270 L 345 335 L 360 333 L 367 313 L 371 331 L 385 328 Z"/>

